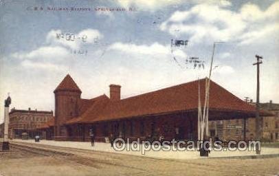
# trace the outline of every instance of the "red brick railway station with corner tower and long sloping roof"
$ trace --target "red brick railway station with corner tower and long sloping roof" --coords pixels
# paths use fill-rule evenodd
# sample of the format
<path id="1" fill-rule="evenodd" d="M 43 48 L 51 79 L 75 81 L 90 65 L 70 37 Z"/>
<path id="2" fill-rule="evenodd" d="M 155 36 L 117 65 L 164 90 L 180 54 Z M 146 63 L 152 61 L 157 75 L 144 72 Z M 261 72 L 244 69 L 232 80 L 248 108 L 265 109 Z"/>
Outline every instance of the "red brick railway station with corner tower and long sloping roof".
<path id="1" fill-rule="evenodd" d="M 109 85 L 109 96 L 83 99 L 82 91 L 67 74 L 54 90 L 54 118 L 39 129 L 54 140 L 89 141 L 90 129 L 100 142 L 110 134 L 142 140 L 159 135 L 167 140 L 197 140 L 198 87 L 204 102 L 206 79 L 124 99 L 120 85 Z M 252 104 L 210 80 L 209 120 L 253 117 Z"/>

